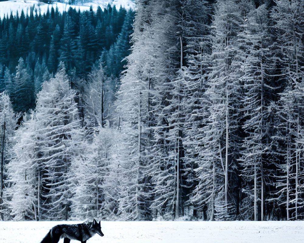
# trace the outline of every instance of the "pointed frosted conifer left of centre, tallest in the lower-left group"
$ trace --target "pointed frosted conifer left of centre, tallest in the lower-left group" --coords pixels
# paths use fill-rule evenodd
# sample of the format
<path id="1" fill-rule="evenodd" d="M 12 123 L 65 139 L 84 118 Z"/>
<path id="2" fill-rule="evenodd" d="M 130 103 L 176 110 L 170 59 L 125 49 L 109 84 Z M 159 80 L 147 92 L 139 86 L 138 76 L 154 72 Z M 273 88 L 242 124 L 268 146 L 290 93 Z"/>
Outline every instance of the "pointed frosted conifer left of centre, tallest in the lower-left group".
<path id="1" fill-rule="evenodd" d="M 37 160 L 43 166 L 46 218 L 68 218 L 72 183 L 69 167 L 73 156 L 80 153 L 80 119 L 75 96 L 62 64 L 37 94 L 36 139 L 40 152 Z"/>

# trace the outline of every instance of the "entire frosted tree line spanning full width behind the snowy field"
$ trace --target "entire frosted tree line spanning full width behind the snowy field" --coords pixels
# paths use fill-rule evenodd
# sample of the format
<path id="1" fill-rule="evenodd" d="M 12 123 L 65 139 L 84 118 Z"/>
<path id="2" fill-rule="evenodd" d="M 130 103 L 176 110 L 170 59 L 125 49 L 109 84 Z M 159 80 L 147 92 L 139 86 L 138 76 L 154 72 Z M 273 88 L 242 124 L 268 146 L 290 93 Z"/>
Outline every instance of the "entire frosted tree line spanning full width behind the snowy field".
<path id="1" fill-rule="evenodd" d="M 22 118 L 35 70 L 4 73 L 2 219 L 302 220 L 304 2 L 136 4 L 86 75 L 85 39 L 39 75 Z"/>

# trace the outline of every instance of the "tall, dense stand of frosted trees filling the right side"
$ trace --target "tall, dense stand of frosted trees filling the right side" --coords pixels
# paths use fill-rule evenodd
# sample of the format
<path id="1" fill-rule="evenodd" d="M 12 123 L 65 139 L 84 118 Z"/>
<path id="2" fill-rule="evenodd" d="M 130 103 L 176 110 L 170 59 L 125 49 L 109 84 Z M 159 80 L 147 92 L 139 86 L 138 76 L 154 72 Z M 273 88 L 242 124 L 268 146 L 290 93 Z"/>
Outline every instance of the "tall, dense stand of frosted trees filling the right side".
<path id="1" fill-rule="evenodd" d="M 132 219 L 302 219 L 303 2 L 137 8 L 116 103 Z"/>

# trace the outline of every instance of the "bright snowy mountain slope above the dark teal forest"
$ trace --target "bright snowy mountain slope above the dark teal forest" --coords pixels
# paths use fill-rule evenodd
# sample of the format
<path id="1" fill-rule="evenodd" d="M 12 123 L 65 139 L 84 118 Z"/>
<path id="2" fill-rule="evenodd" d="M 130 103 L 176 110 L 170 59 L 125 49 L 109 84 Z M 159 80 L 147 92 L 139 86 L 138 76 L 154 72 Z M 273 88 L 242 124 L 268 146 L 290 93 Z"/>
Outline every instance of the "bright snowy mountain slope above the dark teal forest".
<path id="1" fill-rule="evenodd" d="M 60 12 L 64 10 L 68 10 L 70 7 L 76 8 L 80 11 L 86 11 L 92 8 L 96 11 L 98 5 L 101 8 L 105 8 L 108 4 L 116 5 L 117 8 L 122 5 L 126 9 L 135 9 L 135 3 L 132 0 L 91 0 L 90 2 L 79 3 L 78 5 L 69 5 L 67 3 L 62 2 L 53 2 L 53 3 L 44 3 L 38 0 L 9 0 L 5 2 L 0 2 L 0 18 L 3 19 L 4 16 L 10 15 L 12 12 L 13 15 L 16 15 L 17 11 L 20 15 L 22 9 L 24 13 L 29 13 L 30 8 L 34 7 L 37 12 L 41 11 L 41 13 L 47 12 L 47 9 L 50 9 L 52 6 L 54 8 L 58 8 Z"/>

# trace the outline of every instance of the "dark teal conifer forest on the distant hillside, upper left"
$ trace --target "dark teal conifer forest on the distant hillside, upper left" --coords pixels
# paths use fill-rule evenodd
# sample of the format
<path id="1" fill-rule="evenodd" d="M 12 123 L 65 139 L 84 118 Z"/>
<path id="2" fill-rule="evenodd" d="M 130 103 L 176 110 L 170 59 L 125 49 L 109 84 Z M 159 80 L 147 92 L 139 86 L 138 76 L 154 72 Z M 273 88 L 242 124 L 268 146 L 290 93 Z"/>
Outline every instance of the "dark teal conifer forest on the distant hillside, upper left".
<path id="1" fill-rule="evenodd" d="M 0 92 L 11 95 L 16 111 L 27 111 L 34 108 L 41 84 L 56 73 L 60 62 L 68 74 L 85 77 L 102 58 L 104 66 L 111 62 L 107 74 L 118 77 L 125 64 L 121 60 L 130 49 L 132 22 L 131 10 L 110 5 L 97 12 L 70 8 L 60 13 L 51 8 L 43 15 L 32 10 L 26 16 L 21 12 L 20 17 L 4 17 L 0 20 Z M 16 80 L 18 71 L 27 76 L 20 77 L 23 84 Z"/>

